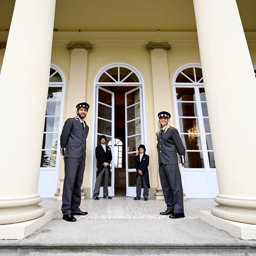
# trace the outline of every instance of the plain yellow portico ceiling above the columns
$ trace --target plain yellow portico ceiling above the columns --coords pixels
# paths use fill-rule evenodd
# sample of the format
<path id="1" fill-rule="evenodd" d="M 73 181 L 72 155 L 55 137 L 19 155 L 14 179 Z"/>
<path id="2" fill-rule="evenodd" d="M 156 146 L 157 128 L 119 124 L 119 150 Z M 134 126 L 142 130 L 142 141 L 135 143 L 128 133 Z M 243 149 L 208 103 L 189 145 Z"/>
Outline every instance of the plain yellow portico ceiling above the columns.
<path id="1" fill-rule="evenodd" d="M 256 31 L 255 0 L 237 0 L 245 31 Z M 0 0 L 0 32 L 9 30 L 15 0 Z M 58 31 L 196 31 L 193 0 L 56 0 Z"/>

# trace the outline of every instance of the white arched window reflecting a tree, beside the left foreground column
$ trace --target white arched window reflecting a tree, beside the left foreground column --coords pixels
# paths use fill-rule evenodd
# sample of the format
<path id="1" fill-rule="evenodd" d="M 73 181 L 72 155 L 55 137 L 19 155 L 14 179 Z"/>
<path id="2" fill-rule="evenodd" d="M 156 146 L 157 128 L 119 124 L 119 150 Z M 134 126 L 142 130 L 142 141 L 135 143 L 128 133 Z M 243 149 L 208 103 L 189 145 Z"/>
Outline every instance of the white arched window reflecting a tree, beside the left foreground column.
<path id="1" fill-rule="evenodd" d="M 38 193 L 43 197 L 54 197 L 54 193 L 57 191 L 60 158 L 59 137 L 60 128 L 62 128 L 64 90 L 65 77 L 61 70 L 52 64 L 49 75 L 38 186 Z"/>

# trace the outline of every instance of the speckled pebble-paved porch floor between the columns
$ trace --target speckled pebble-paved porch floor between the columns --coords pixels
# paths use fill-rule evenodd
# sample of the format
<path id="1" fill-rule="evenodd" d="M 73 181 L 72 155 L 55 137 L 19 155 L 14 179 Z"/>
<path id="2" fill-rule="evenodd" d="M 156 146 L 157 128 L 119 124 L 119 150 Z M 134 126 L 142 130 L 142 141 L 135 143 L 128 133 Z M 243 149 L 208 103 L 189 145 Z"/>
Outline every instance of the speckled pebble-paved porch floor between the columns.
<path id="1" fill-rule="evenodd" d="M 46 210 L 54 211 L 54 218 L 62 218 L 61 201 L 43 198 L 40 203 Z M 184 213 L 186 219 L 199 219 L 200 211 L 210 210 L 217 205 L 213 199 L 186 199 Z M 159 213 L 166 210 L 164 200 L 144 199 L 133 200 L 130 197 L 113 197 L 113 199 L 82 199 L 80 209 L 88 212 L 85 216 L 75 216 L 77 219 L 162 219 Z"/>

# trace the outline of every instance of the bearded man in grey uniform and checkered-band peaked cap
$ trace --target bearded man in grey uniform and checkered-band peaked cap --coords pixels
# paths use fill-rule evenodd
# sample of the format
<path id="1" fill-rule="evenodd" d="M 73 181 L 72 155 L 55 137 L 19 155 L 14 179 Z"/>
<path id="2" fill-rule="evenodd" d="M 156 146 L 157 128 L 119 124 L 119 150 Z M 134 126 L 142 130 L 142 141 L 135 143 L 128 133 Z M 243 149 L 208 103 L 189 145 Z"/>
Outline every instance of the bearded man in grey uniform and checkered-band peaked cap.
<path id="1" fill-rule="evenodd" d="M 62 192 L 63 220 L 74 222 L 74 215 L 86 215 L 79 208 L 81 203 L 81 185 L 83 183 L 86 157 L 86 138 L 89 127 L 85 123 L 89 104 L 76 105 L 74 118 L 68 118 L 63 126 L 60 142 L 61 154 L 65 164 L 65 177 Z"/>

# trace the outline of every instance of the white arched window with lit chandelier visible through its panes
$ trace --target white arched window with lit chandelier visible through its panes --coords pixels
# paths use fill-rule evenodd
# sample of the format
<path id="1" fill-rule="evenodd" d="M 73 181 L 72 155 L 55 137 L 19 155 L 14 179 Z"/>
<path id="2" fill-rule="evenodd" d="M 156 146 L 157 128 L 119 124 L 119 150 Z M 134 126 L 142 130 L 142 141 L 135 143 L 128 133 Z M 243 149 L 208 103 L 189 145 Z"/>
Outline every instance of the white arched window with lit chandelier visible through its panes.
<path id="1" fill-rule="evenodd" d="M 186 148 L 187 167 L 182 168 L 185 193 L 186 188 L 190 191 L 189 188 L 200 190 L 201 187 L 204 190 L 199 194 L 206 190 L 210 194 L 202 197 L 213 197 L 217 177 L 201 66 L 181 67 L 173 78 L 173 85 L 177 128 Z"/>

